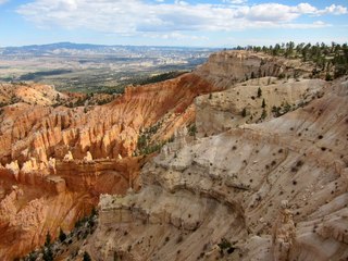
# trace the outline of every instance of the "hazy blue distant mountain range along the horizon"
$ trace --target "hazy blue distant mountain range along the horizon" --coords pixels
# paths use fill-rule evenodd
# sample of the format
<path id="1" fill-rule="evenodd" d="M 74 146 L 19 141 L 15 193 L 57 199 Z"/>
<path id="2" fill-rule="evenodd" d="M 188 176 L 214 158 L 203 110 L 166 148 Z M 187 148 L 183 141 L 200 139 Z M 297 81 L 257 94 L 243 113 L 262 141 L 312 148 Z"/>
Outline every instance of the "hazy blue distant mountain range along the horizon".
<path id="1" fill-rule="evenodd" d="M 105 46 L 74 42 L 55 42 L 49 45 L 33 45 L 23 47 L 0 48 L 0 55 L 78 55 L 78 54 L 149 54 L 159 52 L 212 52 L 216 48 L 194 47 L 157 47 L 157 46 Z"/>

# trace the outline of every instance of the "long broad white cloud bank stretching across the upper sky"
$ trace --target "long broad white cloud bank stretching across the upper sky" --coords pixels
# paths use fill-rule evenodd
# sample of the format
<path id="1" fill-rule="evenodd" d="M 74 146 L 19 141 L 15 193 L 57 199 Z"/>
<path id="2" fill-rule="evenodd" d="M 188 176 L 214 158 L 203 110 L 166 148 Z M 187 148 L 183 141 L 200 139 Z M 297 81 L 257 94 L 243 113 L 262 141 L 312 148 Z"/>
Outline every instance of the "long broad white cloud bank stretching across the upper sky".
<path id="1" fill-rule="evenodd" d="M 176 39 L 183 36 L 179 32 L 320 28 L 330 24 L 302 24 L 296 23 L 296 20 L 304 15 L 347 13 L 347 8 L 335 4 L 319 10 L 309 3 L 247 5 L 244 4 L 246 0 L 224 1 L 222 4 L 192 4 L 183 0 L 175 0 L 174 3 L 163 0 L 152 3 L 145 0 L 36 0 L 21 5 L 17 13 L 40 27 L 84 28 L 126 36 L 152 34 Z"/>

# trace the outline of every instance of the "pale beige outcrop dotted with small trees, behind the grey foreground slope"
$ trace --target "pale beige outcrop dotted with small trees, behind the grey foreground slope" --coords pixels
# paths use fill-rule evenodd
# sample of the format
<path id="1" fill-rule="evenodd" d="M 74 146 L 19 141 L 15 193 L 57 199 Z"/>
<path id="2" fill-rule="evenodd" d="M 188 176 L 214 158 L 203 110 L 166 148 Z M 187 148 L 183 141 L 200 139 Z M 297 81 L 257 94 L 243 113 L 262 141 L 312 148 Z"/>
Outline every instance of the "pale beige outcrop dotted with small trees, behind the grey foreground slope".
<path id="1" fill-rule="evenodd" d="M 262 77 L 195 99 L 198 136 L 210 136 L 245 123 L 278 117 L 322 96 L 322 79 Z"/>

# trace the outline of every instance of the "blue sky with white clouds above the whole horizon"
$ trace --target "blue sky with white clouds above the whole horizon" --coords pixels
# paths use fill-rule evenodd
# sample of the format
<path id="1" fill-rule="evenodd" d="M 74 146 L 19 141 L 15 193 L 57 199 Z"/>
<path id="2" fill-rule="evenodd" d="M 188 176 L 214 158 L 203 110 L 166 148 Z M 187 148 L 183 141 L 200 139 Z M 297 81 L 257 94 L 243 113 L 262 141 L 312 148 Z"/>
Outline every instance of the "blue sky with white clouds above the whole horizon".
<path id="1" fill-rule="evenodd" d="M 347 42 L 348 0 L 0 0 L 0 47 Z"/>

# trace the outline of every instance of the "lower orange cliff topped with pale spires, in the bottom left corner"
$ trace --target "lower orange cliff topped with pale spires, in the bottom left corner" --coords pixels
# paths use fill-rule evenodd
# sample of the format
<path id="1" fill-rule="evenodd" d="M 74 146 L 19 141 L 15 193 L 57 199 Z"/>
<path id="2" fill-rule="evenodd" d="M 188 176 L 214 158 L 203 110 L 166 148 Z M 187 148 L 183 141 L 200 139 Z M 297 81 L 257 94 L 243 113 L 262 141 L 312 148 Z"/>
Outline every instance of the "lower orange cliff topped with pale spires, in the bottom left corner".
<path id="1" fill-rule="evenodd" d="M 42 245 L 47 233 L 55 238 L 90 213 L 101 192 L 124 195 L 137 189 L 144 160 L 65 160 L 49 165 L 35 159 L 20 169 L 16 162 L 0 169 L 0 257 L 12 260 Z"/>

